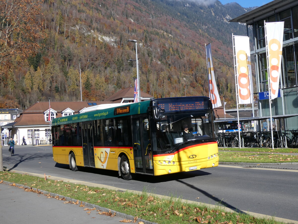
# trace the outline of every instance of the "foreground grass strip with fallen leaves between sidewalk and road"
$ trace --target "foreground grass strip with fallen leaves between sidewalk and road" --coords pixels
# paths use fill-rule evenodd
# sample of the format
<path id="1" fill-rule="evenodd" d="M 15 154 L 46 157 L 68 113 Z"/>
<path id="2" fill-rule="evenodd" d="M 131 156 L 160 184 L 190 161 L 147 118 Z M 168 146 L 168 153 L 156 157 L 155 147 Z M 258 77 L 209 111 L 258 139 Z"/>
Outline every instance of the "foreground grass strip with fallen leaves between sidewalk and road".
<path id="1" fill-rule="evenodd" d="M 260 219 L 248 214 L 226 212 L 220 208 L 184 203 L 174 197 L 160 199 L 144 191 L 142 194 L 113 191 L 5 171 L 0 172 L 0 180 L 60 194 L 159 224 L 282 224 L 272 218 Z"/>

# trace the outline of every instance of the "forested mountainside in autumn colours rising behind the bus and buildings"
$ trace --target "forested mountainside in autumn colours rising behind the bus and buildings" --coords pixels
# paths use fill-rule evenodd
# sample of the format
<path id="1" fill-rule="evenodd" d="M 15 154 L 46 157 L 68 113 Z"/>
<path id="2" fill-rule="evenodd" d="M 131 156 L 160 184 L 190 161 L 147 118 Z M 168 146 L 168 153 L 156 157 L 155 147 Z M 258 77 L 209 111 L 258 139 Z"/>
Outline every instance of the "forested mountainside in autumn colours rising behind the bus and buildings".
<path id="1" fill-rule="evenodd" d="M 232 33 L 228 22 L 247 9 L 237 3 L 176 0 L 46 0 L 41 48 L 2 74 L 0 108 L 37 101 L 103 101 L 136 78 L 154 97 L 208 96 L 205 44 L 211 43 L 218 91 L 235 105 Z M 18 57 L 15 61 L 20 60 Z M 81 73 L 80 73 L 81 71 Z M 51 97 L 51 98 L 49 98 Z"/>

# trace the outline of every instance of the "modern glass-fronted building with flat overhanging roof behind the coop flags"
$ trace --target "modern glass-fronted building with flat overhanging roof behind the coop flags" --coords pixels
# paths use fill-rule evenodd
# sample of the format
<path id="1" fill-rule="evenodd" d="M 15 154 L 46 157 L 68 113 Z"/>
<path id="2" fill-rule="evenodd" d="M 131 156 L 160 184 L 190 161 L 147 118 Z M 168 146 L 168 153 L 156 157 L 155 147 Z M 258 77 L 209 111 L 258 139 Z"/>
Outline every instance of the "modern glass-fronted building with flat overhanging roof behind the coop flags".
<path id="1" fill-rule="evenodd" d="M 246 24 L 247 36 L 253 42 L 251 58 L 255 60 L 257 83 L 254 94 L 260 117 L 270 116 L 264 21 L 284 22 L 280 97 L 272 100 L 272 116 L 285 118 L 285 124 L 280 124 L 285 130 L 297 130 L 298 116 L 293 115 L 298 115 L 298 1 L 274 0 L 230 20 Z"/>

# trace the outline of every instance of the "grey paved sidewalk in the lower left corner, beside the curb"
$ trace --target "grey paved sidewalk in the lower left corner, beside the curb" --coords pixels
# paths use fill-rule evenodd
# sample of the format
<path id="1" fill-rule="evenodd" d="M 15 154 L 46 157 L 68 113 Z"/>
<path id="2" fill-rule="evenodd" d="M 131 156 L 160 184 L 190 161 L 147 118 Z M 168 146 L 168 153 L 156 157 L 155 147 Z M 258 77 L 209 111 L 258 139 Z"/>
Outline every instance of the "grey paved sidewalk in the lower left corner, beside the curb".
<path id="1" fill-rule="evenodd" d="M 108 208 L 103 208 L 98 205 L 92 205 L 82 202 L 84 207 L 81 207 L 81 202 L 78 204 L 69 203 L 76 202 L 71 198 L 57 200 L 57 194 L 51 194 L 52 197 L 46 196 L 48 192 L 41 191 L 43 194 L 24 191 L 23 185 L 12 186 L 11 183 L 3 182 L 0 184 L 0 210 L 1 223 L 90 223 L 90 224 L 116 224 L 122 220 L 132 220 L 134 217 L 117 211 L 110 211 Z M 62 198 L 63 196 L 60 196 Z M 91 210 L 96 208 L 95 210 Z M 86 209 L 86 210 L 84 210 Z M 87 210 L 90 209 L 90 210 Z M 100 211 L 98 211 L 100 210 Z M 116 215 L 112 217 L 99 212 L 106 212 Z M 145 224 L 153 224 L 151 222 L 138 219 L 136 223 L 142 221 Z"/>

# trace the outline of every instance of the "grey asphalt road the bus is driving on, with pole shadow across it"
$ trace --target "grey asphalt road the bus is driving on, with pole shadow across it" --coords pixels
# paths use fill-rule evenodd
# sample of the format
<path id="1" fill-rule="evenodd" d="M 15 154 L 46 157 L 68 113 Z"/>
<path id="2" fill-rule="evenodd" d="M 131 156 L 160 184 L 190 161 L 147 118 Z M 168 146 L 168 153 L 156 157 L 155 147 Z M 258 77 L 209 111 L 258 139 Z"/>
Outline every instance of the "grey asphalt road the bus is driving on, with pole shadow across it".
<path id="1" fill-rule="evenodd" d="M 3 165 L 8 170 L 46 174 L 128 190 L 181 197 L 196 202 L 221 205 L 232 210 L 250 211 L 296 220 L 297 170 L 244 168 L 220 165 L 193 172 L 162 177 L 137 175 L 133 180 L 118 178 L 118 172 L 91 168 L 73 172 L 69 165 L 52 159 L 51 146 L 15 146 L 11 157 L 4 146 Z"/>

